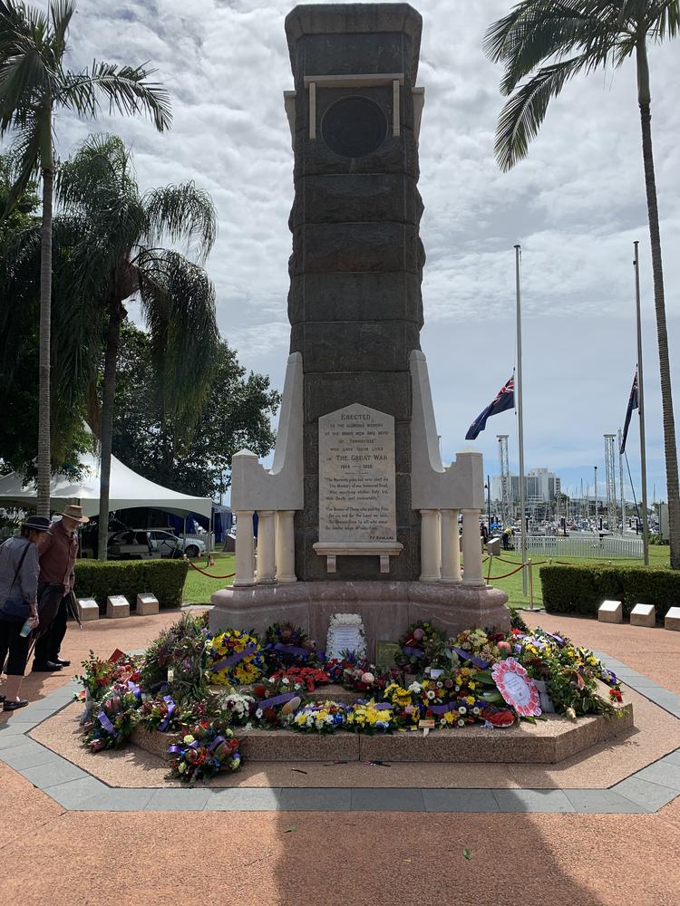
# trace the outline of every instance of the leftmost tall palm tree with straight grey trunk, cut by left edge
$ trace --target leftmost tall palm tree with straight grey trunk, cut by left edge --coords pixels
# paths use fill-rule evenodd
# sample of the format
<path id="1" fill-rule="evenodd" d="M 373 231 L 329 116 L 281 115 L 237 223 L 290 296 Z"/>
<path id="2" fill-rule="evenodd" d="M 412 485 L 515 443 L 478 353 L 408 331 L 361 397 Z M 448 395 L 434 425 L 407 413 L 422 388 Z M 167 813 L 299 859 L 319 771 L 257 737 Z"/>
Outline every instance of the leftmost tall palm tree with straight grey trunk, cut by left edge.
<path id="1" fill-rule="evenodd" d="M 53 116 L 60 110 L 85 119 L 100 109 L 144 112 L 159 131 L 170 126 L 170 100 L 152 71 L 142 66 L 92 63 L 64 68 L 73 16 L 70 0 L 53 0 L 49 14 L 17 0 L 0 0 L 0 138 L 15 134 L 17 173 L 9 207 L 31 178 L 43 179 L 43 236 L 40 274 L 40 352 L 38 429 L 38 513 L 50 513 L 50 330 L 52 299 Z"/>

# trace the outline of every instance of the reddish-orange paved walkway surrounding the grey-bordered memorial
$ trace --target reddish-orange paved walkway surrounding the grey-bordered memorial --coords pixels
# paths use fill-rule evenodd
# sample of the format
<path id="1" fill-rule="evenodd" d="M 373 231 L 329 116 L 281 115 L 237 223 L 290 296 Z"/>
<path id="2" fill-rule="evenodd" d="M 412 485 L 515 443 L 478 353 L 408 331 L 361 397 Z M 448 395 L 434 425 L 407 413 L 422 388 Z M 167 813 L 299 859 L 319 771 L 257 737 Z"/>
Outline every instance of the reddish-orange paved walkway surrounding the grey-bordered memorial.
<path id="1" fill-rule="evenodd" d="M 174 619 L 176 614 L 161 614 L 91 624 L 83 632 L 70 629 L 66 650 L 73 660 L 81 660 L 90 648 L 106 656 L 115 647 L 143 648 L 161 625 Z M 651 679 L 659 687 L 680 691 L 678 633 L 547 616 L 541 616 L 540 622 L 626 663 L 631 668 L 629 679 L 636 679 L 635 671 L 639 672 L 647 678 L 647 690 L 656 689 L 649 685 Z M 73 675 L 76 670 L 68 672 Z M 70 692 L 58 691 L 65 679 L 40 675 L 27 680 L 29 695 L 42 700 L 24 710 L 24 728 L 40 718 L 38 712 L 50 712 L 60 697 L 66 700 Z M 52 692 L 56 698 L 47 699 Z M 667 703 L 673 701 L 667 699 Z M 5 740 L 6 734 L 11 743 L 3 742 L 0 754 L 25 745 L 11 739 L 21 735 L 16 717 L 0 730 L 0 739 Z M 21 767 L 25 774 L 31 770 L 25 760 Z M 667 797 L 670 787 L 656 781 L 673 780 L 673 768 L 675 762 L 668 762 L 663 775 L 647 776 L 645 783 Z M 638 803 L 646 811 L 637 814 L 556 812 L 552 806 L 548 813 L 503 814 L 495 808 L 424 813 L 406 811 L 403 799 L 379 802 L 375 795 L 384 795 L 384 790 L 364 790 L 362 794 L 351 791 L 350 804 L 353 795 L 363 795 L 358 805 L 368 810 L 331 812 L 319 810 L 327 804 L 307 789 L 282 792 L 289 801 L 277 798 L 276 811 L 271 810 L 270 800 L 269 805 L 263 803 L 265 811 L 177 814 L 156 807 L 144 812 L 102 812 L 65 807 L 68 804 L 34 786 L 41 776 L 38 771 L 32 781 L 0 765 L 5 817 L 0 823 L 0 846 L 5 866 L 16 866 L 5 872 L 0 887 L 3 903 L 58 906 L 114 900 L 136 906 L 191 899 L 258 906 L 453 901 L 475 906 L 544 902 L 597 906 L 618 904 L 622 897 L 636 906 L 680 902 L 680 798 L 668 805 L 659 803 L 660 808 Z M 63 778 L 62 786 L 71 782 Z M 129 795 L 127 790 L 108 792 L 119 795 L 121 808 L 130 808 L 122 801 L 122 796 Z M 206 793 L 243 791 L 156 789 L 151 795 L 162 799 L 178 792 L 198 794 L 193 808 L 205 809 L 207 800 L 202 804 L 199 800 Z M 256 792 L 272 795 L 263 789 Z M 398 792 L 403 795 L 404 791 Z M 547 792 L 555 791 L 542 791 Z M 290 798 L 300 793 L 308 797 L 306 805 Z M 151 798 L 146 805 L 150 803 Z M 161 805 L 159 800 L 156 805 Z M 459 808 L 460 799 L 454 805 Z M 300 810 L 285 810 L 291 806 Z M 388 810 L 373 811 L 381 806 Z"/>

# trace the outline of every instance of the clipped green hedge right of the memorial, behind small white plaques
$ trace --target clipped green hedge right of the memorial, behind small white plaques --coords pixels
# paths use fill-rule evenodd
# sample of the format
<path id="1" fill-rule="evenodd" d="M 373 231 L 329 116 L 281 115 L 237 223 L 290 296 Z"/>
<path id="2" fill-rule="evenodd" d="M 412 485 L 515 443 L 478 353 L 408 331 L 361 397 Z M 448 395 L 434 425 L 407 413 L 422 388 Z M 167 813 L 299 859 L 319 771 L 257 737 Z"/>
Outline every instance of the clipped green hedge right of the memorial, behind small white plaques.
<path id="1" fill-rule="evenodd" d="M 680 572 L 661 566 L 541 566 L 543 605 L 549 613 L 597 616 L 603 601 L 623 602 L 627 616 L 636 604 L 654 604 L 656 622 L 680 601 Z"/>

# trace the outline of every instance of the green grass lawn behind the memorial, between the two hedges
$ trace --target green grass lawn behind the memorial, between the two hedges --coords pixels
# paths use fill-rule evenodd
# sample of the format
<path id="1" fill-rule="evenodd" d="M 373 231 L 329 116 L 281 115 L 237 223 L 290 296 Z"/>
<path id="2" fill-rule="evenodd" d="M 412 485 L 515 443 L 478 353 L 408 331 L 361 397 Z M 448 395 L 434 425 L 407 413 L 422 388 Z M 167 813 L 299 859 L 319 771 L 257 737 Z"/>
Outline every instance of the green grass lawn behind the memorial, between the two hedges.
<path id="1" fill-rule="evenodd" d="M 214 554 L 215 556 L 215 565 L 206 566 L 206 558 L 199 557 L 194 560 L 194 564 L 204 569 L 206 573 L 211 575 L 228 575 L 228 573 L 233 573 L 235 569 L 235 556 L 234 554 Z M 512 564 L 520 564 L 521 557 L 517 551 L 503 551 L 501 553 L 503 560 L 510 560 L 511 563 L 503 563 L 497 557 L 494 558 L 493 566 L 491 570 L 491 584 L 495 585 L 497 588 L 502 588 L 502 590 L 508 594 L 508 603 L 512 607 L 529 607 L 529 595 L 525 598 L 522 594 L 522 574 L 521 572 L 515 573 L 514 575 L 509 576 L 507 579 L 499 579 L 493 581 L 493 577 L 497 575 L 503 575 L 504 573 L 510 573 L 511 570 L 516 569 L 517 567 Z M 586 559 L 582 557 L 560 557 L 560 561 L 564 563 L 573 563 L 573 564 L 596 564 L 596 563 L 607 563 L 607 561 Z M 536 564 L 548 563 L 548 559 L 542 556 L 537 556 L 533 558 L 533 562 Z M 642 564 L 641 560 L 613 560 L 612 564 L 626 564 L 629 566 L 639 566 Z M 668 566 L 669 561 L 669 549 L 667 545 L 652 546 L 649 548 L 649 564 L 651 566 Z M 487 560 L 483 564 L 484 577 L 486 577 L 489 570 L 489 561 Z M 533 569 L 533 586 L 534 586 L 534 607 L 543 606 L 543 596 L 541 594 L 540 588 L 540 579 L 539 579 L 539 566 L 535 566 Z M 219 591 L 220 588 L 225 588 L 227 585 L 230 585 L 234 580 L 233 579 L 209 579 L 208 576 L 204 576 L 201 573 L 197 573 L 196 570 L 191 569 L 189 566 L 189 574 L 187 576 L 187 582 L 184 585 L 184 602 L 190 604 L 209 604 L 210 595 L 213 592 Z"/>

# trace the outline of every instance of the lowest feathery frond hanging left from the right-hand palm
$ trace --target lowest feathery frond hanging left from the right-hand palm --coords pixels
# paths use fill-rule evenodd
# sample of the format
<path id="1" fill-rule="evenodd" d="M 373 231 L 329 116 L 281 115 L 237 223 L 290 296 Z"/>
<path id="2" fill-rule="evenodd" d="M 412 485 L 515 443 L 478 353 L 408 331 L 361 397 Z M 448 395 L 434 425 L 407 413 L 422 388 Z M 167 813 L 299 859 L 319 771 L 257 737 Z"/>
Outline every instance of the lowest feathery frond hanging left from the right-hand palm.
<path id="1" fill-rule="evenodd" d="M 588 66 L 588 55 L 573 57 L 539 70 L 507 101 L 498 120 L 494 152 L 502 170 L 527 156 L 529 141 L 538 133 L 551 98 L 565 83 Z"/>

